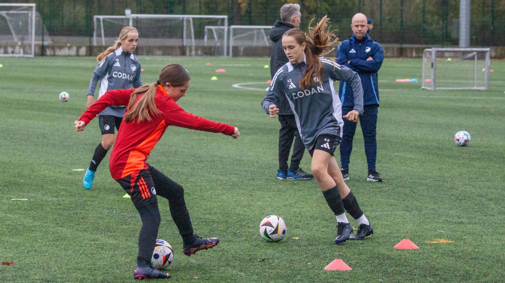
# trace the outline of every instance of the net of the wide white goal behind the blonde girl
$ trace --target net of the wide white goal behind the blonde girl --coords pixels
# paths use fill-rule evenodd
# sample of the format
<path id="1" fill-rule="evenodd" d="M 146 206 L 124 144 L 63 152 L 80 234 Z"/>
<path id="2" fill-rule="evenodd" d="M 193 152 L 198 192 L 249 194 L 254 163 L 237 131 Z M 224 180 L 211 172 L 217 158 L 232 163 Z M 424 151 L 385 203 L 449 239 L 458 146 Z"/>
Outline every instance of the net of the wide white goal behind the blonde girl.
<path id="1" fill-rule="evenodd" d="M 125 26 L 138 30 L 143 46 L 185 46 L 186 54 L 195 53 L 195 46 L 206 46 L 206 27 L 228 28 L 228 16 L 209 15 L 148 15 L 94 16 L 94 45 L 112 45 Z M 226 55 L 226 33 L 216 38 L 211 46 L 214 55 Z M 163 55 L 163 54 L 160 54 Z M 201 54 L 204 55 L 204 54 Z"/>

